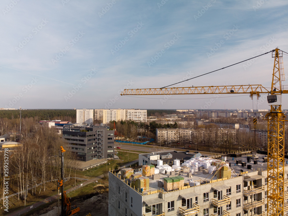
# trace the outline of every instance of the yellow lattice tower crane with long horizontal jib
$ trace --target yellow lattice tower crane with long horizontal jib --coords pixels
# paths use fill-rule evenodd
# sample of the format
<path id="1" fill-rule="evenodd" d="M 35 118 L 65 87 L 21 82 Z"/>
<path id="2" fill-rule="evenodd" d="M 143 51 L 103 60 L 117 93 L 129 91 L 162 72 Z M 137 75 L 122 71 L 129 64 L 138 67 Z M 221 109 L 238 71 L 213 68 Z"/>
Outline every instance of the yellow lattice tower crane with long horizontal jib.
<path id="1" fill-rule="evenodd" d="M 260 97 L 260 94 L 268 94 L 267 100 L 268 104 L 271 106 L 271 109 L 270 112 L 267 113 L 266 115 L 268 120 L 267 215 L 284 216 L 284 212 L 286 213 L 288 211 L 288 205 L 284 202 L 284 199 L 288 198 L 288 193 L 285 190 L 285 188 L 288 186 L 288 181 L 287 179 L 285 179 L 284 176 L 285 115 L 283 114 L 281 109 L 281 99 L 282 99 L 281 96 L 283 93 L 287 94 L 288 90 L 284 90 L 282 85 L 282 81 L 284 80 L 283 62 L 282 62 L 283 51 L 276 48 L 275 50 L 272 50 L 270 52 L 272 52 L 272 58 L 274 58 L 271 90 L 263 87 L 262 85 L 249 84 L 249 85 L 202 86 L 202 87 L 179 87 L 179 88 L 164 87 L 158 89 L 124 89 L 121 95 L 188 95 L 188 94 L 190 95 L 190 94 L 244 93 L 244 94 L 250 94 L 251 99 L 253 99 L 254 95 L 257 96 L 258 99 Z"/>

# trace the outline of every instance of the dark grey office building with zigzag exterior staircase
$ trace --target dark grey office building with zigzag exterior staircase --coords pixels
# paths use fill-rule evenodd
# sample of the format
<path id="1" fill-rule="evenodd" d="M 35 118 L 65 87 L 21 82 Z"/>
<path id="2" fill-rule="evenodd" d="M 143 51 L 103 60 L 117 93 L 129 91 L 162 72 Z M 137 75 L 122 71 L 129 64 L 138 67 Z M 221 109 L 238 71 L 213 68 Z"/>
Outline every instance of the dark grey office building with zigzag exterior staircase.
<path id="1" fill-rule="evenodd" d="M 63 140 L 68 142 L 69 151 L 75 153 L 80 161 L 114 156 L 114 131 L 107 127 L 65 127 Z"/>

